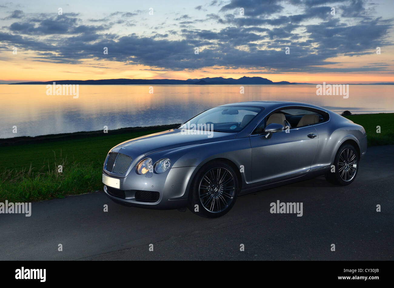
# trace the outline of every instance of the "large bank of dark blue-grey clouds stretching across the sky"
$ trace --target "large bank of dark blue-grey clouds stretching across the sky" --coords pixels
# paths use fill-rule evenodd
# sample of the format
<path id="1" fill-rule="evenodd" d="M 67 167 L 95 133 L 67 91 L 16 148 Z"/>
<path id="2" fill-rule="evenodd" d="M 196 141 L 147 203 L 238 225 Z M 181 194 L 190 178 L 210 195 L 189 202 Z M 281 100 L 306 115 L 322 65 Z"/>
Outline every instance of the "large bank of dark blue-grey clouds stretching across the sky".
<path id="1" fill-rule="evenodd" d="M 288 4 L 296 5 L 296 12 L 279 14 Z M 372 54 L 377 46 L 392 44 L 388 40 L 392 22 L 372 17 L 364 1 L 232 0 L 225 4 L 212 1 L 210 5 L 221 5 L 220 12 L 208 14 L 204 19 L 181 15 L 175 19 L 180 22 L 174 26 L 161 23 L 152 28 L 151 37 L 108 33 L 113 24 L 136 25 L 138 19 L 130 19 L 136 13 L 117 11 L 109 17 L 89 20 L 98 25 L 86 25 L 71 14 L 28 18 L 22 12 L 19 13 L 22 18 L 8 27 L 9 33 L 0 32 L 0 44 L 35 51 L 36 61 L 80 63 L 82 59 L 106 59 L 126 65 L 147 65 L 160 71 L 204 67 L 272 73 L 388 69 L 386 63 L 346 68 L 328 61 L 338 55 Z M 337 15 L 331 15 L 332 5 L 336 5 Z M 244 16 L 237 15 L 240 7 L 245 9 Z M 310 19 L 317 19 L 312 22 L 316 24 L 310 24 Z M 201 22 L 206 22 L 209 28 L 196 28 L 195 24 Z M 222 25 L 212 27 L 212 23 Z M 158 33 L 162 27 L 165 32 Z M 46 35 L 53 39 L 49 42 Z M 108 47 L 108 55 L 103 54 L 103 47 Z M 200 48 L 199 54 L 194 53 L 195 47 Z M 288 55 L 286 47 L 290 48 Z M 327 67 L 333 64 L 336 68 Z"/>

